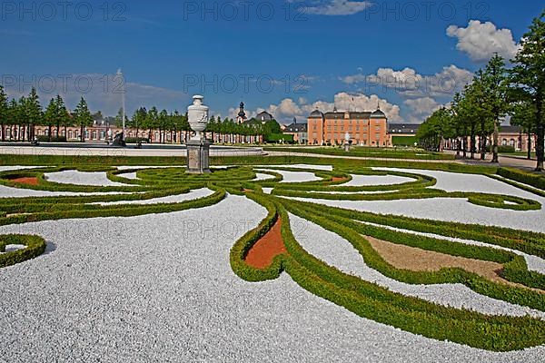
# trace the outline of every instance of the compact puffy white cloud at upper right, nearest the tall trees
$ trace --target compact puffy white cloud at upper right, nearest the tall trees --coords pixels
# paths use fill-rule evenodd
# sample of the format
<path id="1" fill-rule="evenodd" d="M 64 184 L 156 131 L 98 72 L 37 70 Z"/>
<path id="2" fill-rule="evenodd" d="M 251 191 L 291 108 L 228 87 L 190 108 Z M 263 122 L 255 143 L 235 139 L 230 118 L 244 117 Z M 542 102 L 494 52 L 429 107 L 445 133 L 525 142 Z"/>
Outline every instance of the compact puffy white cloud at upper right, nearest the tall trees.
<path id="1" fill-rule="evenodd" d="M 510 60 L 520 49 L 510 29 L 498 29 L 490 22 L 471 20 L 466 28 L 451 25 L 447 28 L 447 35 L 458 38 L 456 48 L 475 62 L 486 62 L 494 53 Z"/>

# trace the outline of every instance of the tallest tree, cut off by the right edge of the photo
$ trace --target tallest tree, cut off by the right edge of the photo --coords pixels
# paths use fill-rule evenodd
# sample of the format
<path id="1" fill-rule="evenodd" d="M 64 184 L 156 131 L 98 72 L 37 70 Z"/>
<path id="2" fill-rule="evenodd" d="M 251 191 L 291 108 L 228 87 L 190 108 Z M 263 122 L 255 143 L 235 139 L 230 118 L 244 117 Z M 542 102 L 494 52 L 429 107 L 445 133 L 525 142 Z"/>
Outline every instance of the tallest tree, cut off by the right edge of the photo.
<path id="1" fill-rule="evenodd" d="M 545 121 L 543 104 L 545 103 L 545 21 L 535 18 L 528 33 L 522 36 L 521 49 L 512 61 L 515 66 L 510 70 L 510 85 L 518 94 L 520 101 L 529 101 L 534 106 L 534 126 L 537 134 L 536 171 L 543 171 L 545 159 Z"/>

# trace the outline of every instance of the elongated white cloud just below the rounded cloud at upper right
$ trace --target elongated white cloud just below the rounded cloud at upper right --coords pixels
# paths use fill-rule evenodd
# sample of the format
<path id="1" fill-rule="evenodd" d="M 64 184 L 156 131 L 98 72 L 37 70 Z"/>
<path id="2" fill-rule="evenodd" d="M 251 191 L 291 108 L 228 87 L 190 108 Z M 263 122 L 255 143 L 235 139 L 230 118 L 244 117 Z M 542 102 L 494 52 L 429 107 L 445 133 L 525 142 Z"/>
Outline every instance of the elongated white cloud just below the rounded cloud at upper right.
<path id="1" fill-rule="evenodd" d="M 379 68 L 376 74 L 352 74 L 341 78 L 346 84 L 361 84 L 366 87 L 381 86 L 392 89 L 405 97 L 449 96 L 461 91 L 471 83 L 473 74 L 454 64 L 443 67 L 441 72 L 422 75 L 412 68 L 394 70 Z"/>

